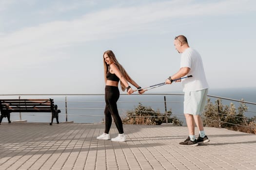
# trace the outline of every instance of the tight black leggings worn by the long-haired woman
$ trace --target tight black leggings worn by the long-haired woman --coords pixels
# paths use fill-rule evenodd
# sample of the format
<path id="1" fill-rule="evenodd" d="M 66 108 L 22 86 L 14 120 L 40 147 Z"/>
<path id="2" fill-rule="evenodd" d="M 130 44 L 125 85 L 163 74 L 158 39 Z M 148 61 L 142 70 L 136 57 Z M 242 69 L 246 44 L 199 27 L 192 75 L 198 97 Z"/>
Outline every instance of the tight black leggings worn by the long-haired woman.
<path id="1" fill-rule="evenodd" d="M 108 134 L 111 124 L 112 124 L 112 117 L 115 121 L 115 124 L 118 128 L 119 134 L 123 134 L 123 123 L 118 114 L 118 106 L 117 102 L 119 99 L 119 90 L 116 86 L 106 85 L 105 86 L 105 133 Z M 112 117 L 111 117 L 112 115 Z"/>

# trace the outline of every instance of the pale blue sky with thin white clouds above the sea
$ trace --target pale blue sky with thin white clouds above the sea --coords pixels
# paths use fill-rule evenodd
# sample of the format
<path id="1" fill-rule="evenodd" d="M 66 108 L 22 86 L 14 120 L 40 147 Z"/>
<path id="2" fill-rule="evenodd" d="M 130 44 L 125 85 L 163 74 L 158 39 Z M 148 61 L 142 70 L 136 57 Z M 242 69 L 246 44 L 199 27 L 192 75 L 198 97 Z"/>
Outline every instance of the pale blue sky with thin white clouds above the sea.
<path id="1" fill-rule="evenodd" d="M 138 85 L 163 83 L 180 34 L 210 89 L 256 87 L 255 20 L 256 0 L 0 0 L 0 94 L 102 94 L 107 50 Z"/>

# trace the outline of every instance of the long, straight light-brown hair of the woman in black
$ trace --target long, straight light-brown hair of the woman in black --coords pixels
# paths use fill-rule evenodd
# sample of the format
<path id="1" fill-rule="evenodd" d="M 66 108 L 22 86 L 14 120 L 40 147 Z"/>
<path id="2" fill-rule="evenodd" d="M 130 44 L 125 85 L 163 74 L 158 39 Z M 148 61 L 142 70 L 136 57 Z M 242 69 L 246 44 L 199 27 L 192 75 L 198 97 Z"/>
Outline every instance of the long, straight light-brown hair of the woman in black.
<path id="1" fill-rule="evenodd" d="M 125 71 L 125 69 L 122 67 L 122 65 L 120 65 L 118 63 L 118 60 L 114 54 L 113 51 L 111 50 L 108 50 L 108 51 L 105 51 L 103 53 L 103 64 L 104 64 L 104 77 L 105 77 L 105 82 L 107 81 L 107 77 L 106 77 L 106 74 L 109 70 L 109 65 L 105 62 L 105 59 L 104 59 L 104 54 L 107 54 L 108 57 L 109 57 L 109 60 L 110 60 L 110 63 L 114 63 L 115 65 L 117 65 L 118 69 L 120 70 L 120 72 L 122 73 L 122 75 L 124 76 L 124 78 L 126 80 L 130 80 L 130 76 L 127 74 L 127 72 Z M 124 91 L 126 89 L 125 85 L 120 81 L 120 86 L 122 88 L 122 91 Z"/>

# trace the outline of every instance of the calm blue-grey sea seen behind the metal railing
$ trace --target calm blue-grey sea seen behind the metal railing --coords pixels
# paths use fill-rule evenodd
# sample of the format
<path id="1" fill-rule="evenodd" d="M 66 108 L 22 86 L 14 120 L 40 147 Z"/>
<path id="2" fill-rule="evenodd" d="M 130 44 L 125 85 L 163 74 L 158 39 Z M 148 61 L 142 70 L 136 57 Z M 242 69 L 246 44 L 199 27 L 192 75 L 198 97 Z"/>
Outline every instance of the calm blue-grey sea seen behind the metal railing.
<path id="1" fill-rule="evenodd" d="M 243 99 L 246 102 L 256 103 L 256 87 L 209 89 L 208 95 L 233 100 Z M 21 97 L 23 99 L 54 99 L 55 104 L 58 105 L 58 109 L 61 111 L 59 113 L 59 122 L 101 123 L 104 120 L 104 94 Z M 213 103 L 217 100 L 214 97 L 209 98 Z M 158 92 L 157 94 L 144 93 L 143 95 L 126 95 L 124 92 L 121 92 L 118 100 L 118 112 L 121 118 L 125 118 L 127 112 L 133 111 L 139 104 L 142 104 L 160 113 L 171 110 L 172 115 L 182 121 L 183 125 L 186 125 L 183 115 L 183 99 L 182 91 Z M 222 99 L 222 104 L 230 105 L 231 102 L 235 104 L 236 108 L 240 104 L 240 102 Z M 246 105 L 248 111 L 245 112 L 245 116 L 249 118 L 256 116 L 256 104 L 246 103 Z M 20 120 L 27 120 L 27 122 L 50 122 L 51 113 L 11 113 L 11 121 Z M 7 119 L 4 118 L 3 122 L 7 122 Z M 54 119 L 53 123 L 56 123 L 56 119 Z"/>

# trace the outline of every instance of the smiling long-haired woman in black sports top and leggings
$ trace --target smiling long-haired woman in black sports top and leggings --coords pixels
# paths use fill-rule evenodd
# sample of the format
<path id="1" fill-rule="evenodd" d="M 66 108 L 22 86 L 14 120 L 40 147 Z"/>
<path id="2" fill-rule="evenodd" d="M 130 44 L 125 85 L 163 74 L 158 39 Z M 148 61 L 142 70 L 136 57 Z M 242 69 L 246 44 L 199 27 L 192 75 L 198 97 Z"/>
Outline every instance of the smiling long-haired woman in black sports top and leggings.
<path id="1" fill-rule="evenodd" d="M 115 54 L 113 51 L 108 50 L 103 54 L 103 63 L 104 63 L 104 77 L 105 77 L 105 132 L 98 136 L 97 139 L 109 140 L 109 130 L 112 124 L 112 117 L 117 126 L 119 135 L 115 138 L 112 138 L 112 141 L 116 142 L 125 142 L 126 136 L 123 133 L 123 124 L 122 120 L 118 114 L 117 101 L 119 98 L 118 82 L 120 80 L 120 85 L 122 91 L 126 89 L 128 94 L 132 94 L 134 91 L 131 86 L 128 84 L 131 83 L 137 89 L 141 87 L 131 79 L 131 77 L 126 73 L 125 69 L 118 63 Z M 139 94 L 144 93 L 143 89 L 138 90 Z"/>

